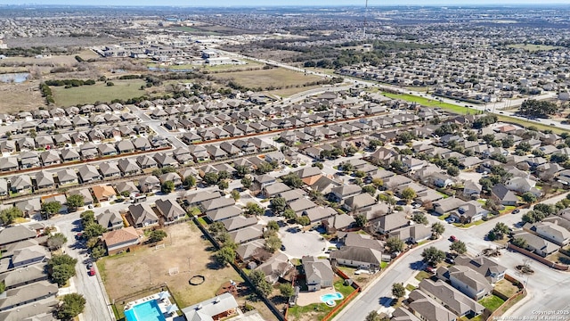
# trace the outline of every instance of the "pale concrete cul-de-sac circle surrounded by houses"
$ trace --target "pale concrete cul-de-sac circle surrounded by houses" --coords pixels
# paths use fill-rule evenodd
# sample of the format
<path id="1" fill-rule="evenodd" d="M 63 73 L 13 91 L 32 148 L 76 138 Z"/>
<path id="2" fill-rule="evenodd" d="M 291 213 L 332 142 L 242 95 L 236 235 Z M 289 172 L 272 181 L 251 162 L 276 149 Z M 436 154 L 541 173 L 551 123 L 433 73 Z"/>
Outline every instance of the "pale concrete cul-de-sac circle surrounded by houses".
<path id="1" fill-rule="evenodd" d="M 288 232 L 290 227 L 281 229 L 281 242 L 287 248 L 283 251 L 289 258 L 300 259 L 305 255 L 322 256 L 325 248 L 330 244 L 325 240 L 321 240 L 321 235 L 314 231 L 309 232 Z"/>

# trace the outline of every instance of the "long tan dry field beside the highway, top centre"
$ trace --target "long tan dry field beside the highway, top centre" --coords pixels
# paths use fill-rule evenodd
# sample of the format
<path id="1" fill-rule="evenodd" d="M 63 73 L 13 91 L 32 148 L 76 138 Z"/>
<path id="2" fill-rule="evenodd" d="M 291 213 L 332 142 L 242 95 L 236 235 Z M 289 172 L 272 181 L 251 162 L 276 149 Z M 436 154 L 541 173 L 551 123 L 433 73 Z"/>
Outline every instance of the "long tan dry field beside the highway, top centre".
<path id="1" fill-rule="evenodd" d="M 216 73 L 213 77 L 218 79 L 233 79 L 241 86 L 246 87 L 302 86 L 309 82 L 321 80 L 321 78 L 317 76 L 304 75 L 300 72 L 286 70 L 283 68 L 222 72 Z"/>

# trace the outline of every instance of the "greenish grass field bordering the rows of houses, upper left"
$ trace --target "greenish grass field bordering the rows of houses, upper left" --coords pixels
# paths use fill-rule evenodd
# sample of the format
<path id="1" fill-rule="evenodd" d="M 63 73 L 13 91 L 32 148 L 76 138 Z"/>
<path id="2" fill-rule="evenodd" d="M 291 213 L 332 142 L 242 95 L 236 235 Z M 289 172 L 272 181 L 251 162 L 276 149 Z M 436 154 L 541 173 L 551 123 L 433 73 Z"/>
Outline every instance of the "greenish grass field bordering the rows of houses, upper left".
<path id="1" fill-rule="evenodd" d="M 92 86 L 77 86 L 65 88 L 64 86 L 52 86 L 53 99 L 58 106 L 69 107 L 85 103 L 106 102 L 113 99 L 129 99 L 145 95 L 141 90 L 144 86 L 142 79 L 112 80 L 115 86 L 107 86 L 97 82 Z"/>

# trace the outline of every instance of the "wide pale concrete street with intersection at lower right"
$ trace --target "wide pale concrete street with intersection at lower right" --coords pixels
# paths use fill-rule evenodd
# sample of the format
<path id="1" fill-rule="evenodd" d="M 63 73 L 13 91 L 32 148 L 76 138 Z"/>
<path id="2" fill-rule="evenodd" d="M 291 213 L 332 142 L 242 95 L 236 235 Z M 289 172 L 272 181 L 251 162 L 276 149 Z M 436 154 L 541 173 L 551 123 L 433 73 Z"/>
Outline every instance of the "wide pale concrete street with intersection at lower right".
<path id="1" fill-rule="evenodd" d="M 566 193 L 551 198 L 544 203 L 555 203 L 564 197 L 566 197 Z M 449 245 L 451 244 L 449 237 L 455 235 L 467 244 L 469 254 L 476 255 L 486 248 L 496 247 L 495 243 L 485 241 L 484 239 L 485 235 L 495 224 L 503 222 L 508 226 L 513 226 L 513 224 L 520 221 L 526 211 L 528 210 L 521 210 L 516 215 L 504 215 L 468 229 L 447 224 L 434 216 L 428 216 L 430 225 L 436 222 L 443 222 L 445 225 L 444 235 L 439 240 L 419 246 L 395 261 L 333 320 L 363 320 L 371 310 L 386 310 L 392 299 L 392 284 L 406 284 L 419 270 L 425 268 L 425 264 L 421 262 L 421 251 L 426 247 L 435 246 L 439 250 L 449 251 Z M 533 311 L 568 309 L 570 292 L 556 291 L 556 289 L 564 289 L 565 285 L 570 285 L 570 274 L 548 268 L 542 263 L 531 259 L 531 268 L 533 268 L 534 274 L 532 276 L 521 276 L 515 267 L 523 264 L 527 258 L 514 251 L 501 250 L 501 253 L 501 257 L 496 260 L 507 268 L 507 273 L 510 276 L 514 276 L 521 282 L 526 283 L 528 296 L 523 302 L 533 302 L 532 304 L 517 304 L 517 306 L 509 309 L 505 316 L 525 317 L 533 316 Z"/>

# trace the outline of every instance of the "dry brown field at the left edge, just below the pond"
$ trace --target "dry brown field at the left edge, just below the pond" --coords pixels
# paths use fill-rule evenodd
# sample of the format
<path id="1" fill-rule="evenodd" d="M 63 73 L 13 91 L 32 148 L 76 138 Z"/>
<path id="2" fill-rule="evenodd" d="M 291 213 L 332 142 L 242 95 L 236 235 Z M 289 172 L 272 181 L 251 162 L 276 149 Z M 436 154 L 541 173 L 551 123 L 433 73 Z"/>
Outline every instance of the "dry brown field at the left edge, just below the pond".
<path id="1" fill-rule="evenodd" d="M 37 81 L 25 81 L 21 84 L 0 83 L 0 111 L 34 111 L 45 106 L 45 100 L 38 88 Z"/>

